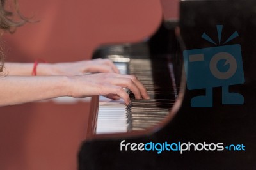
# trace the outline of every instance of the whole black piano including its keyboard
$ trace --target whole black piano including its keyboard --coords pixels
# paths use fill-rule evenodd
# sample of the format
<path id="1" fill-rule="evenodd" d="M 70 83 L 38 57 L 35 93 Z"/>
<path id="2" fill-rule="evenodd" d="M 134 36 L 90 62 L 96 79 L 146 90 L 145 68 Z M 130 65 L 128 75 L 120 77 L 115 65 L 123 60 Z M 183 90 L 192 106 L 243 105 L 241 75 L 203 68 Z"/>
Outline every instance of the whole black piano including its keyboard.
<path id="1" fill-rule="evenodd" d="M 79 169 L 256 168 L 256 1 L 179 8 L 149 40 L 95 51 L 137 75 L 151 98 L 93 97 Z"/>

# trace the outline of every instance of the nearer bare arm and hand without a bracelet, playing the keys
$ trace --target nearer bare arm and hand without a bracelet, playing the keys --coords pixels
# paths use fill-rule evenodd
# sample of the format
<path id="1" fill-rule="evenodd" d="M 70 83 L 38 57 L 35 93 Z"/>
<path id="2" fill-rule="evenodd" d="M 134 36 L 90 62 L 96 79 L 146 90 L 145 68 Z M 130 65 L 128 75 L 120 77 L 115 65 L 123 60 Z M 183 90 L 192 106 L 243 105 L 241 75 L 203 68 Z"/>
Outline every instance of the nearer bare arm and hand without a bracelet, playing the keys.
<path id="1" fill-rule="evenodd" d="M 123 98 L 129 104 L 129 88 L 137 99 L 149 98 L 143 84 L 132 75 L 97 73 L 75 76 L 13 76 L 0 77 L 0 106 L 70 96 L 106 95 Z"/>

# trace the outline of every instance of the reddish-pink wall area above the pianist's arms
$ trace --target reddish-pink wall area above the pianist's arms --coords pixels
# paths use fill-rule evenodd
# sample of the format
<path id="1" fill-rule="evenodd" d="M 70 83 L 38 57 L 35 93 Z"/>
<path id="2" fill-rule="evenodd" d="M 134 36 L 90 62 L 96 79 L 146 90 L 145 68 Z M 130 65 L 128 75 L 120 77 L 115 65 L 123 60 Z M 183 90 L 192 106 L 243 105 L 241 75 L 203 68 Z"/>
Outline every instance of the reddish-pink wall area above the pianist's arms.
<path id="1" fill-rule="evenodd" d="M 40 22 L 4 35 L 8 61 L 90 59 L 102 43 L 136 42 L 152 35 L 162 15 L 158 0 L 23 0 L 20 10 Z"/>

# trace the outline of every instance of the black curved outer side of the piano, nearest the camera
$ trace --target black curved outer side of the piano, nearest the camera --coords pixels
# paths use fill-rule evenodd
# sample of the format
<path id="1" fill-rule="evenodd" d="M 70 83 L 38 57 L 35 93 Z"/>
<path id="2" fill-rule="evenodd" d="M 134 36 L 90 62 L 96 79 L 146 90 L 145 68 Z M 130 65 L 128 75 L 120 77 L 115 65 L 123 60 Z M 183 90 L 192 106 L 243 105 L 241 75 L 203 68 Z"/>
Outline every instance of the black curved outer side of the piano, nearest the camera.
<path id="1" fill-rule="evenodd" d="M 186 69 L 189 72 L 186 73 L 188 87 L 179 111 L 166 126 L 151 134 L 84 141 L 79 153 L 79 168 L 255 169 L 255 9 L 254 0 L 180 1 L 179 40 L 185 45 L 182 52 L 186 51 L 184 56 L 188 56 L 185 61 L 188 62 Z M 220 57 L 219 53 L 225 55 Z M 209 59 L 209 56 L 214 59 Z M 225 64 L 223 59 L 230 62 Z M 208 62 L 208 65 L 200 63 L 202 61 Z M 189 62 L 199 64 L 189 66 Z M 217 70 L 213 71 L 212 75 L 219 80 L 212 81 L 211 78 L 214 85 L 209 86 L 204 76 L 211 72 L 211 62 L 215 66 L 213 70 Z M 230 68 L 236 68 L 238 71 L 231 72 L 229 77 L 220 78 L 222 73 L 229 72 Z M 190 71 L 198 72 L 201 79 L 190 75 Z M 202 72 L 205 74 L 200 74 Z M 193 76 L 197 82 L 204 82 L 205 88 L 200 86 L 202 84 L 195 85 L 191 82 L 189 77 Z M 238 79 L 239 77 L 241 79 Z M 231 95 L 227 101 L 226 97 L 230 92 L 240 95 Z M 191 105 L 193 98 L 206 94 L 212 99 L 210 102 L 202 100 L 200 107 Z M 200 104 L 196 104 L 198 103 Z M 127 145 L 128 143 L 130 145 Z M 130 147 L 132 143 L 136 143 L 137 146 L 140 143 L 149 143 L 148 146 L 152 146 L 153 143 L 159 144 L 154 147 L 154 151 L 134 151 Z M 173 146 L 177 144 L 177 150 L 172 148 L 172 151 L 168 151 L 162 147 L 161 144 L 164 143 Z M 181 154 L 179 146 L 182 143 L 184 146 L 188 146 L 189 143 L 199 144 L 199 148 L 197 147 L 196 151 L 192 148 Z M 121 150 L 121 144 L 127 146 L 127 150 Z M 208 147 L 211 144 L 211 150 L 205 150 L 205 144 Z"/>

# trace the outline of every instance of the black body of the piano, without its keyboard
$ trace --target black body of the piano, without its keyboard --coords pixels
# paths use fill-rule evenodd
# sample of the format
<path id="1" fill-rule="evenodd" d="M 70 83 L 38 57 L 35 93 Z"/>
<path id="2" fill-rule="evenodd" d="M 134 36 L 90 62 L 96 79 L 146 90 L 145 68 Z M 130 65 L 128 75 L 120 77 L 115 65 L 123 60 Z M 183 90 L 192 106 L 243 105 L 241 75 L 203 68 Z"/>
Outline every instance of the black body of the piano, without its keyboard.
<path id="1" fill-rule="evenodd" d="M 221 26 L 221 36 L 217 26 Z M 239 36 L 225 43 L 235 31 Z M 203 33 L 216 44 L 209 38 L 202 38 Z M 166 54 L 171 56 L 180 88 L 170 116 L 147 132 L 90 137 L 81 145 L 79 169 L 256 169 L 255 40 L 256 1 L 180 1 L 178 24 L 164 20 L 159 32 L 148 42 L 123 45 L 123 50 L 119 51 L 122 55 L 127 52 L 139 54 L 137 56 L 150 55 L 152 58 L 161 58 Z M 223 87 L 219 86 L 212 88 L 212 107 L 192 107 L 191 100 L 205 95 L 206 91 L 186 87 L 182 53 L 192 49 L 218 49 L 224 43 L 239 44 L 241 47 L 244 82 L 230 85 L 228 90 L 243 95 L 243 104 L 223 104 Z M 108 52 L 118 55 L 116 49 L 119 46 L 113 47 L 117 48 L 99 50 L 97 56 Z M 125 150 L 128 143 L 130 145 Z M 157 147 L 150 151 L 141 151 L 138 147 L 131 150 L 132 143 L 136 146 L 140 143 L 157 144 Z M 170 151 L 163 146 L 173 143 L 177 145 L 174 144 Z M 181 153 L 179 147 L 182 143 L 199 145 L 196 151 L 191 145 L 190 151 Z M 151 146 L 148 145 L 149 148 Z M 202 147 L 208 148 L 205 150 Z"/>

